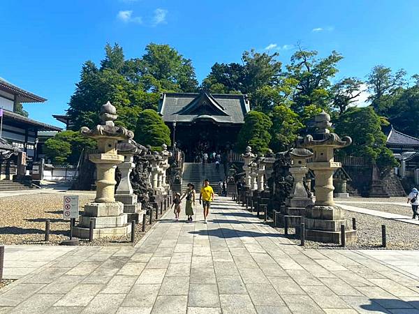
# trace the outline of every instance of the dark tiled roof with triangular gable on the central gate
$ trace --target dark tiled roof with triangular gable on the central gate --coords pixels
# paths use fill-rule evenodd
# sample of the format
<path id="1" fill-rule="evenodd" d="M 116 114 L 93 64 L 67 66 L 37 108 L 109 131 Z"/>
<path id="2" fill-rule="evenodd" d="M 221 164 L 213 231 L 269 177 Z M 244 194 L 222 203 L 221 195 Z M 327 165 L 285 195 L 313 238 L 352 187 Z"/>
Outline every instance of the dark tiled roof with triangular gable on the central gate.
<path id="1" fill-rule="evenodd" d="M 245 95 L 165 93 L 159 101 L 159 113 L 166 122 L 193 122 L 243 124 L 250 111 Z"/>

